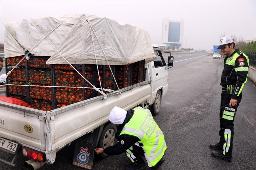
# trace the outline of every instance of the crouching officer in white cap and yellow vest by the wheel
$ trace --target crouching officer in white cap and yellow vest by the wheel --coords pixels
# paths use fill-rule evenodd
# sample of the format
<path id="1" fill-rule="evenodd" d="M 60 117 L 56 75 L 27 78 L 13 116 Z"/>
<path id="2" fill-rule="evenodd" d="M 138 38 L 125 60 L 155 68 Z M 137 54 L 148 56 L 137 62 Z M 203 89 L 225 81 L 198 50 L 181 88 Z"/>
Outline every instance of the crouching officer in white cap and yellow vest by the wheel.
<path id="1" fill-rule="evenodd" d="M 136 107 L 126 112 L 115 106 L 109 114 L 109 120 L 120 130 L 117 132 L 118 143 L 105 149 L 96 148 L 96 153 L 118 155 L 125 152 L 132 161 L 125 167 L 126 170 L 146 168 L 142 157 L 146 158 L 152 169 L 164 162 L 163 156 L 167 148 L 164 134 L 148 109 Z"/>

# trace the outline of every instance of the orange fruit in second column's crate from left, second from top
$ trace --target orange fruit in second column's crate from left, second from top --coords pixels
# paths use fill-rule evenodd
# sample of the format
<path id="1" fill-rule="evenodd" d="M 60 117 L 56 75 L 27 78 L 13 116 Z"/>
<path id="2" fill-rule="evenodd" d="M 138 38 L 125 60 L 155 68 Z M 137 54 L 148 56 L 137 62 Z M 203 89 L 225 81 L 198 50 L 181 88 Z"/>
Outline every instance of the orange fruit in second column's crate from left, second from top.
<path id="1" fill-rule="evenodd" d="M 29 70 L 28 77 L 30 83 L 52 84 L 51 70 Z"/>

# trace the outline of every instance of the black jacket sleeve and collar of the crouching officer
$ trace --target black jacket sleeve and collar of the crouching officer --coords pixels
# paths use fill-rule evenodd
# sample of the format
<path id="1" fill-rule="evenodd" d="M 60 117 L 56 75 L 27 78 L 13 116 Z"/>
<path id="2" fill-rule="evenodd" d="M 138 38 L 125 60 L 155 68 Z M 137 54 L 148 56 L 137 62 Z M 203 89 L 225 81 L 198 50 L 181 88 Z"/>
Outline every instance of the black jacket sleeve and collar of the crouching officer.
<path id="1" fill-rule="evenodd" d="M 133 144 L 140 141 L 140 139 L 135 136 L 126 135 L 126 134 L 120 135 L 124 125 L 127 122 L 129 122 L 130 119 L 132 118 L 133 113 L 134 113 L 134 110 L 127 111 L 126 117 L 124 119 L 124 123 L 121 124 L 120 126 L 117 126 L 118 131 L 117 131 L 115 137 L 116 137 L 116 140 L 118 141 L 118 143 L 113 146 L 105 148 L 104 153 L 106 153 L 107 155 L 119 155 L 119 154 L 125 152 L 125 150 L 127 150 Z"/>

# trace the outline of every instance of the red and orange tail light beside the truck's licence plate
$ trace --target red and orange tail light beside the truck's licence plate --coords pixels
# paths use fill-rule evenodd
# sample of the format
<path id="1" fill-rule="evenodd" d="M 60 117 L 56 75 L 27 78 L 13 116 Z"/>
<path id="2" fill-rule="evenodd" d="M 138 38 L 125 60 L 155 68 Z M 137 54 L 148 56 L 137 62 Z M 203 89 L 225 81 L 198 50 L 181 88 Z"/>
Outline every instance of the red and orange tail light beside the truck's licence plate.
<path id="1" fill-rule="evenodd" d="M 22 147 L 22 154 L 25 157 L 34 159 L 35 161 L 45 162 L 45 153 L 30 149 L 27 147 Z"/>

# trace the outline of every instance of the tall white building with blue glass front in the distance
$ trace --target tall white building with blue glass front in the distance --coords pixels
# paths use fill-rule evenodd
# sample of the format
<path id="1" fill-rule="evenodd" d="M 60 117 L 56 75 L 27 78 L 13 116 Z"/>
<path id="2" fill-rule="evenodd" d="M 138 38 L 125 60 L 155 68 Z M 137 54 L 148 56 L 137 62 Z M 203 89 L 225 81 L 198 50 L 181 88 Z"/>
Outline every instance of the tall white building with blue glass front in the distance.
<path id="1" fill-rule="evenodd" d="M 184 21 L 163 19 L 162 43 L 168 44 L 170 49 L 180 49 L 183 41 Z"/>

